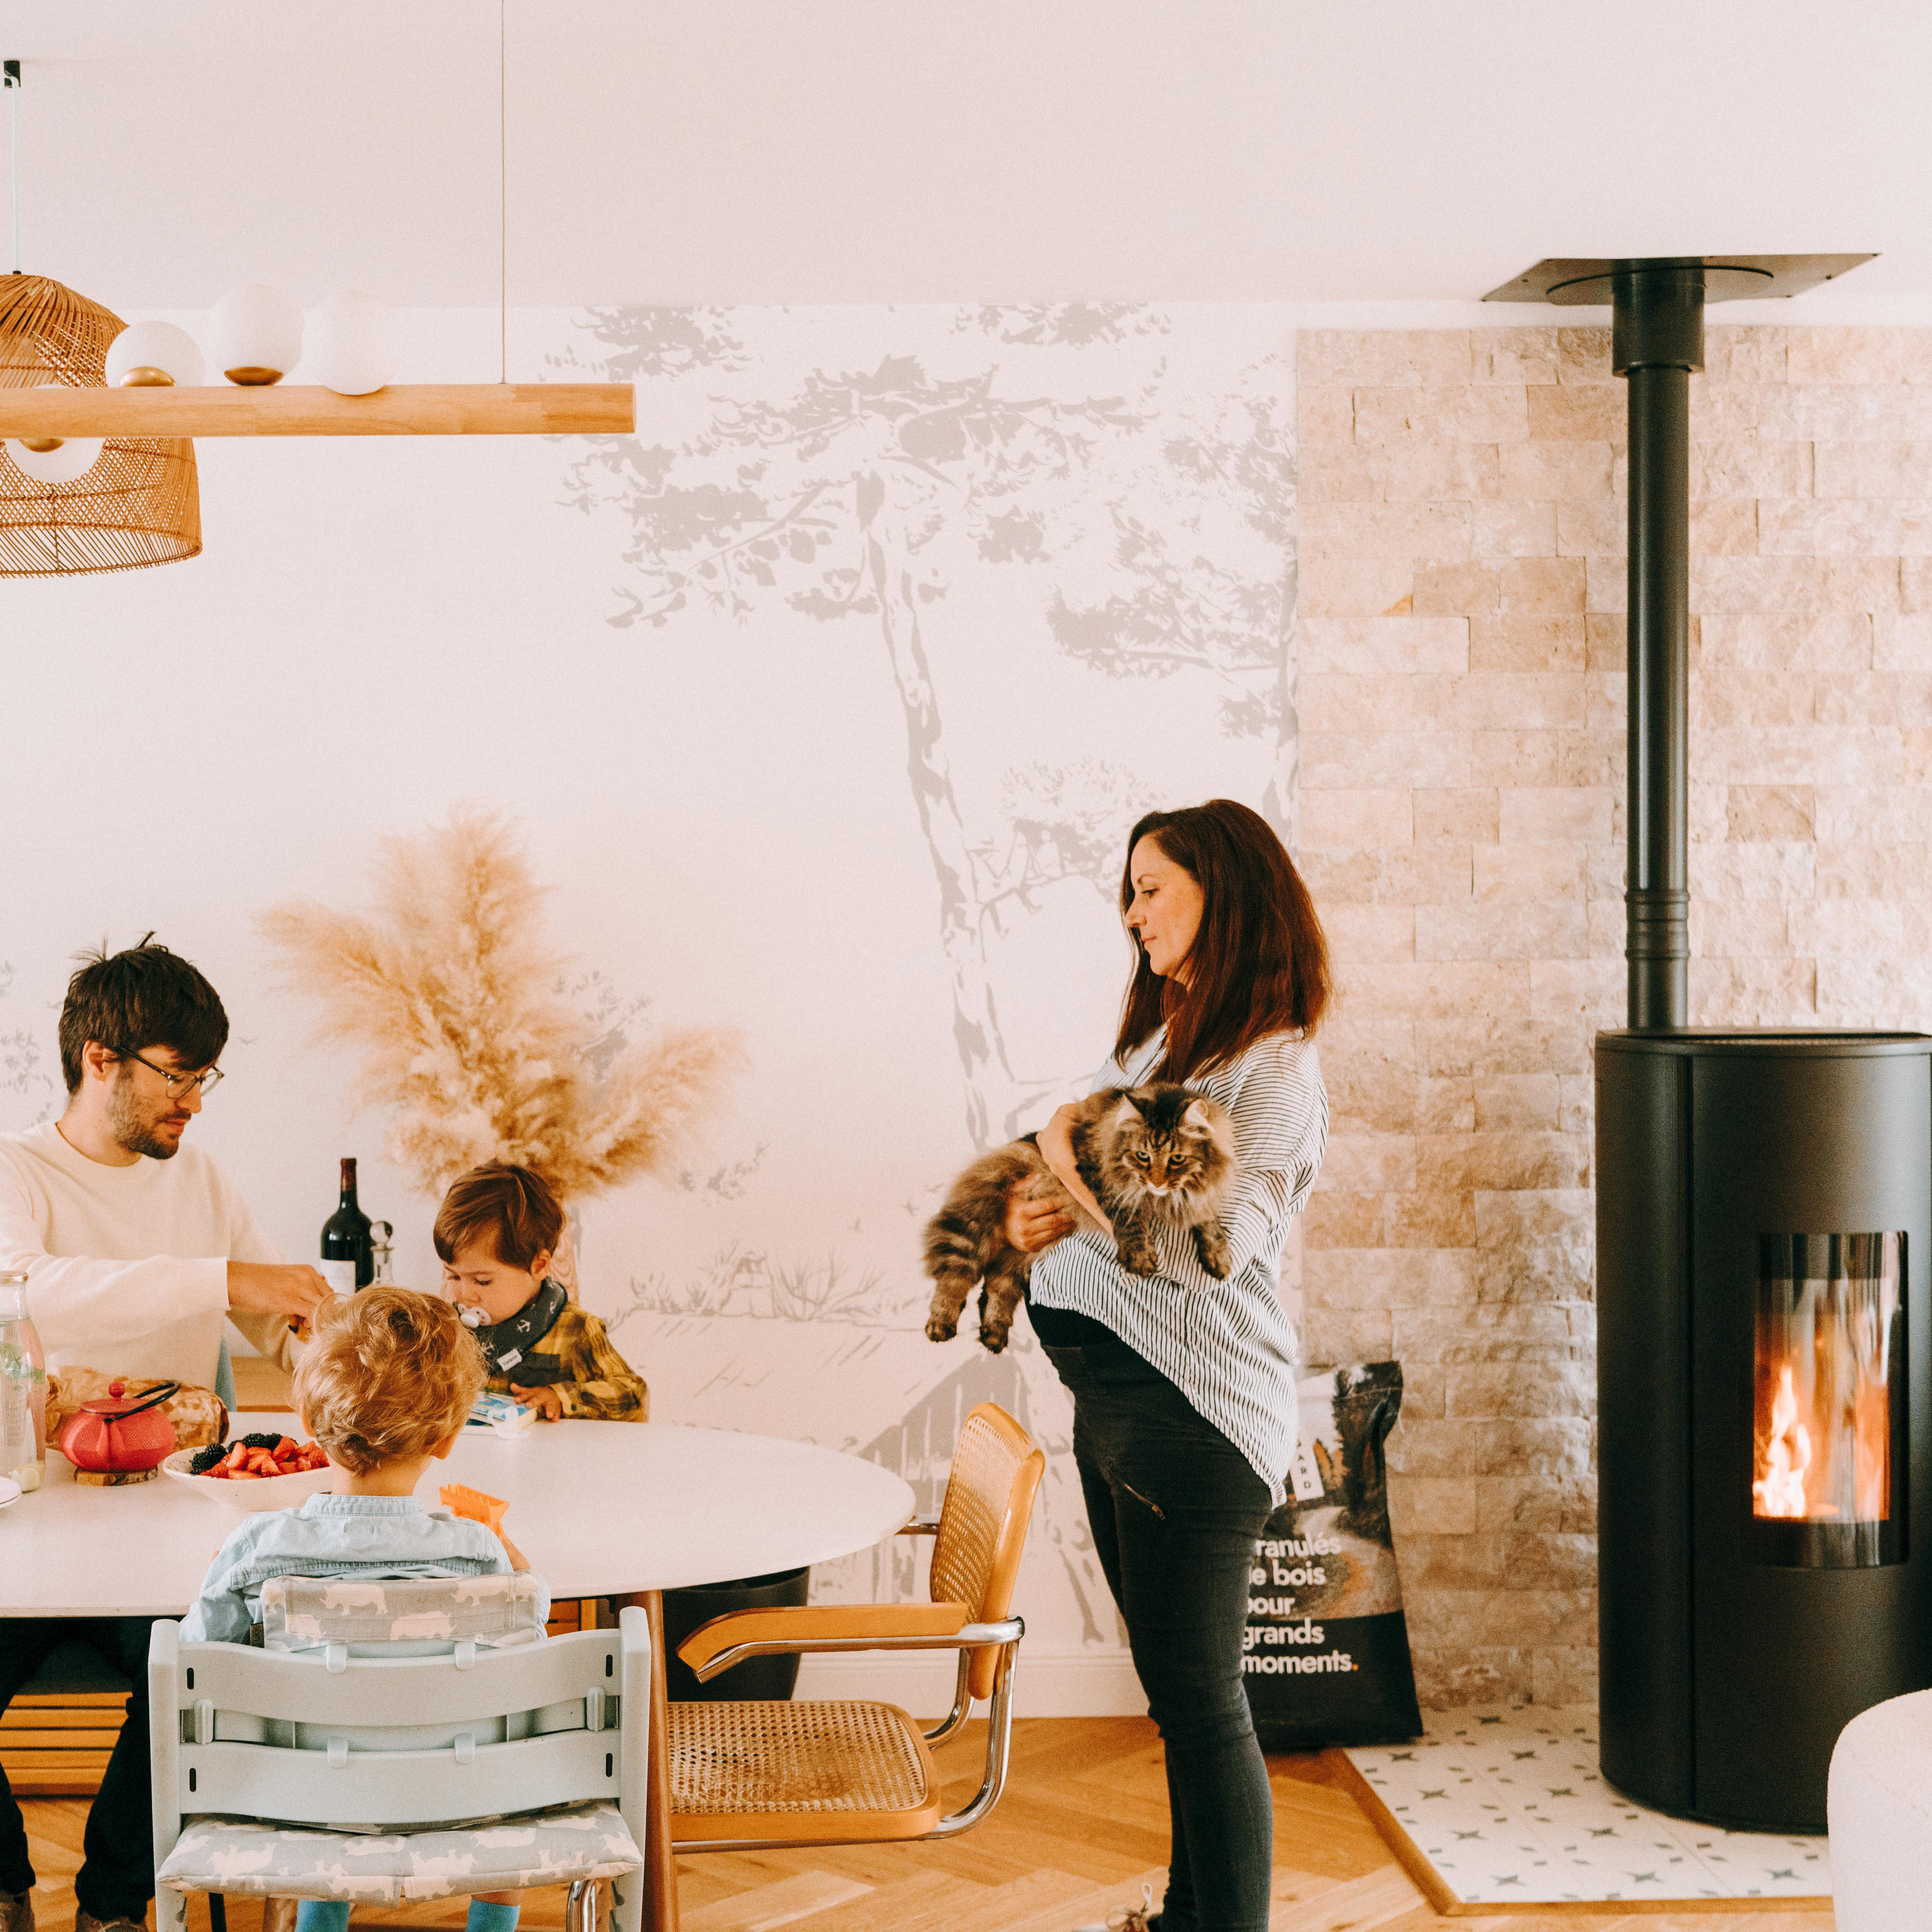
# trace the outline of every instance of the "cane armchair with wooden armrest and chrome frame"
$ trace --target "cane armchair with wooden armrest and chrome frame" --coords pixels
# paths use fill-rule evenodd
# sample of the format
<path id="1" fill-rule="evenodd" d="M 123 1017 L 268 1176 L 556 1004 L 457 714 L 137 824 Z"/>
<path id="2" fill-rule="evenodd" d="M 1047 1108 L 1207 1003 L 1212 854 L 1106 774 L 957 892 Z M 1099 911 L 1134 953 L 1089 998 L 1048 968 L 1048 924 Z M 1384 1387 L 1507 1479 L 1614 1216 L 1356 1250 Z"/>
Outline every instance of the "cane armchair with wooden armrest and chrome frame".
<path id="1" fill-rule="evenodd" d="M 1026 1625 L 1009 1615 L 1045 1457 L 993 1403 L 966 1418 L 931 1534 L 929 1604 L 740 1609 L 694 1631 L 678 1656 L 699 1683 L 744 1658 L 827 1650 L 958 1650 L 952 1712 L 920 1731 L 896 1704 L 738 1702 L 670 1706 L 670 1837 L 678 1851 L 852 1845 L 951 1837 L 976 1826 L 1007 1783 L 1012 1665 Z M 941 1814 L 931 1747 L 985 1698 L 978 1795 Z"/>

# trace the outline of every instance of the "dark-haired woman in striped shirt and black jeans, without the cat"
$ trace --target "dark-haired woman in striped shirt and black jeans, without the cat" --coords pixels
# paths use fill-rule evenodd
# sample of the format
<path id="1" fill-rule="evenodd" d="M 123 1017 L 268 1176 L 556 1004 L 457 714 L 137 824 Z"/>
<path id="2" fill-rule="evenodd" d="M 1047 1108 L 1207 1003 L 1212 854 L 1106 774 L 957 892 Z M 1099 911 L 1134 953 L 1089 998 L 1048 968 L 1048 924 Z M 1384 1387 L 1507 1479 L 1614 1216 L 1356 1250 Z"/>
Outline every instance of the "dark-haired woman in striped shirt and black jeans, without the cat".
<path id="1" fill-rule="evenodd" d="M 1032 1321 L 1074 1397 L 1074 1463 L 1107 1586 L 1167 1747 L 1173 1855 L 1157 1932 L 1265 1932 L 1267 1766 L 1242 1687 L 1248 1569 L 1294 1455 L 1296 1339 L 1275 1294 L 1289 1221 L 1327 1144 L 1314 1030 L 1327 945 L 1267 821 L 1227 798 L 1153 811 L 1128 840 L 1121 916 L 1134 974 L 1101 1086 L 1173 1080 L 1233 1124 L 1227 1279 L 1159 1231 L 1159 1273 L 1014 1188 L 1005 1235 L 1037 1254 Z M 1039 1134 L 1105 1227 L 1072 1113 Z"/>

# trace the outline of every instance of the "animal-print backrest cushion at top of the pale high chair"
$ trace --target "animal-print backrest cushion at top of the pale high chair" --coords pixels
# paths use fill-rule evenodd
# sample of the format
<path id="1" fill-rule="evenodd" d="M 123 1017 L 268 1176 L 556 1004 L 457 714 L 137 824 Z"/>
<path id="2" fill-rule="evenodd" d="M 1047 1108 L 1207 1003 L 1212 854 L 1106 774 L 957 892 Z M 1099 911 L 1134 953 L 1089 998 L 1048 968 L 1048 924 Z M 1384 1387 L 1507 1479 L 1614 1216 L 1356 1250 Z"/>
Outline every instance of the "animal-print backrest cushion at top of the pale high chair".
<path id="1" fill-rule="evenodd" d="M 352 1658 L 433 1658 L 543 1636 L 543 1584 L 508 1577 L 274 1577 L 261 1590 L 269 1650 L 346 1644 Z"/>

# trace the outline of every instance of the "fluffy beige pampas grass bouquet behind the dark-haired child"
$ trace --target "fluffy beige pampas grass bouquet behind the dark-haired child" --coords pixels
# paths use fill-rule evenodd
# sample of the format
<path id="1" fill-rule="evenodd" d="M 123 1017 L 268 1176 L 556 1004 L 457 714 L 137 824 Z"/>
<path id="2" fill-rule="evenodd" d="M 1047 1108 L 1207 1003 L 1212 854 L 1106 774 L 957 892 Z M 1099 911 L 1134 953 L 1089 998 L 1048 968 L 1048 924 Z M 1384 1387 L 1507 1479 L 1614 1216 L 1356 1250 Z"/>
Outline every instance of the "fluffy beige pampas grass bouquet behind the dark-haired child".
<path id="1" fill-rule="evenodd" d="M 373 916 L 313 898 L 255 920 L 315 1039 L 359 1053 L 359 1105 L 392 1111 L 386 1151 L 429 1196 L 479 1161 L 535 1169 L 566 1200 L 663 1175 L 744 1066 L 728 1028 L 665 1028 L 603 1078 L 560 997 L 543 896 L 512 829 L 458 808 L 386 838 Z"/>

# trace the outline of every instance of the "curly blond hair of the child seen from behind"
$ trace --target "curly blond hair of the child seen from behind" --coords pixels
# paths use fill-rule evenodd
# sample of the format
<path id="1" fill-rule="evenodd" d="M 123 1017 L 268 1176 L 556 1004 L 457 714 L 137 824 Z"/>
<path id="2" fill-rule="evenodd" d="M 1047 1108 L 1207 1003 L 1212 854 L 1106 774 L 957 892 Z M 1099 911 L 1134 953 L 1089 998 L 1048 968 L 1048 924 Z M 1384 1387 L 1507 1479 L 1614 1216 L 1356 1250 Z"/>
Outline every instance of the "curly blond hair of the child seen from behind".
<path id="1" fill-rule="evenodd" d="M 485 1370 L 450 1302 L 388 1287 L 330 1300 L 296 1368 L 296 1406 L 328 1461 L 367 1476 L 454 1435 Z"/>

